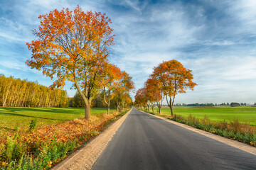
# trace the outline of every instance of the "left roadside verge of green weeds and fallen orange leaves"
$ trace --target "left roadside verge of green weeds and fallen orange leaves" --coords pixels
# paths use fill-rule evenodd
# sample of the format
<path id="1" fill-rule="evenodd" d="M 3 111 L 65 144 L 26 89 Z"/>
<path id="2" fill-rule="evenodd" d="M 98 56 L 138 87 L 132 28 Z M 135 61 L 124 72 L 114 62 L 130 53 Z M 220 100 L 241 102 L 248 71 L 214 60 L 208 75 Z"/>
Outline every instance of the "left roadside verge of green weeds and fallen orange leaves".
<path id="1" fill-rule="evenodd" d="M 126 113 L 126 112 L 124 112 Z M 0 131 L 0 169 L 50 169 L 124 113 Z M 4 128 L 3 128 L 4 129 Z"/>

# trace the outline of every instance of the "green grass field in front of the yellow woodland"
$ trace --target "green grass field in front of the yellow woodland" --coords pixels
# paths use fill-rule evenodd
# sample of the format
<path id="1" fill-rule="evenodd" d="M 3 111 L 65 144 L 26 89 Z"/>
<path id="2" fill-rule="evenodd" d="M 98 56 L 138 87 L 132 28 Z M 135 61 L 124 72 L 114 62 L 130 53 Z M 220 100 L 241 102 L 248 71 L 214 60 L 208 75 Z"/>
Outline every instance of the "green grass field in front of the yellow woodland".
<path id="1" fill-rule="evenodd" d="M 110 111 L 115 111 L 114 109 Z M 107 113 L 107 108 L 92 108 L 91 115 Z M 85 108 L 9 108 L 0 107 L 0 130 L 28 126 L 36 119 L 38 125 L 60 123 L 65 120 L 83 118 Z"/>

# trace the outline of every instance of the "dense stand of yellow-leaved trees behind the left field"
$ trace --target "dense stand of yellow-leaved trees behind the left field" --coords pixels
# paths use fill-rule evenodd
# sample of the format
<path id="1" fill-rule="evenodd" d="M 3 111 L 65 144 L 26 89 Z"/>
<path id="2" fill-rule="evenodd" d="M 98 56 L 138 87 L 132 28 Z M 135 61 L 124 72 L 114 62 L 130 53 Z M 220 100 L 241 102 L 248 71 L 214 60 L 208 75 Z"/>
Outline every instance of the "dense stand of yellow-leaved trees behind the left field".
<path id="1" fill-rule="evenodd" d="M 12 107 L 66 107 L 68 97 L 66 91 L 51 89 L 37 82 L 0 74 L 0 106 Z"/>

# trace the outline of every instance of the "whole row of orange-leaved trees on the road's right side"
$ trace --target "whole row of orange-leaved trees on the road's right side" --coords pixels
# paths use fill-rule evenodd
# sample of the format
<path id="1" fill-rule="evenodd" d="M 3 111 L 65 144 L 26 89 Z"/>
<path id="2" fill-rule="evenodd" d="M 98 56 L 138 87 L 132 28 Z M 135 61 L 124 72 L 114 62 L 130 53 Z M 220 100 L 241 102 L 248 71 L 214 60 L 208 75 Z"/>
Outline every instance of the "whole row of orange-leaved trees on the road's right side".
<path id="1" fill-rule="evenodd" d="M 174 99 L 177 94 L 186 93 L 186 89 L 193 90 L 196 83 L 190 69 L 186 69 L 177 60 L 162 62 L 158 67 L 154 67 L 154 72 L 146 80 L 144 87 L 139 89 L 135 96 L 135 104 L 148 110 L 150 106 L 154 112 L 154 103 L 161 111 L 161 106 L 166 98 L 166 102 L 174 115 Z"/>

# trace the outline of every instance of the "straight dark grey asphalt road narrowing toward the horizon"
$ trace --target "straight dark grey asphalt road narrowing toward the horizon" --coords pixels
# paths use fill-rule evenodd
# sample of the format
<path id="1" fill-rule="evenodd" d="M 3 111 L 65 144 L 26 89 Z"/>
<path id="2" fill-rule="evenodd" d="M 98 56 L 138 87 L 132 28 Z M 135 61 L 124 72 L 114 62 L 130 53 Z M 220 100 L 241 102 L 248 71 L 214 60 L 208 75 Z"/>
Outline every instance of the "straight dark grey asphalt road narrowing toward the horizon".
<path id="1" fill-rule="evenodd" d="M 256 169 L 256 156 L 133 108 L 96 169 Z"/>

